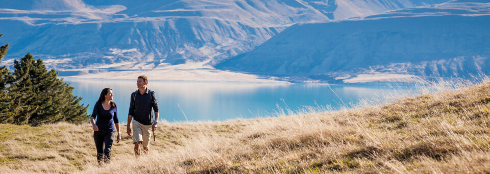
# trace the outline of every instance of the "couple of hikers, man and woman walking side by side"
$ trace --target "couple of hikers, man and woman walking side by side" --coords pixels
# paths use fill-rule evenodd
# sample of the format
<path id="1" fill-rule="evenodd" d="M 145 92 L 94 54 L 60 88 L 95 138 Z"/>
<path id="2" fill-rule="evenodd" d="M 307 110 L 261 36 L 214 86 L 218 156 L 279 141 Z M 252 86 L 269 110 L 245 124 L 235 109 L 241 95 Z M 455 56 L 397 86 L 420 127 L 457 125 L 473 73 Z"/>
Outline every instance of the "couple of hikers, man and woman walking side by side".
<path id="1" fill-rule="evenodd" d="M 131 94 L 129 105 L 128 126 L 126 132 L 133 137 L 134 154 L 138 158 L 141 154 L 140 147 L 146 154 L 150 150 L 150 136 L 157 129 L 158 125 L 158 102 L 155 92 L 146 88 L 148 78 L 139 76 L 136 81 L 138 90 Z M 99 100 L 93 106 L 90 122 L 93 129 L 93 140 L 97 150 L 97 162 L 109 163 L 111 160 L 111 147 L 116 138 L 116 142 L 121 140 L 119 130 L 119 119 L 117 118 L 117 105 L 112 102 L 113 93 L 111 88 L 102 90 Z M 153 112 L 155 111 L 155 119 Z M 97 118 L 98 117 L 98 118 Z M 97 121 L 95 122 L 95 118 Z M 134 119 L 133 119 L 134 118 Z M 133 130 L 131 131 L 131 120 Z M 117 130 L 117 137 L 116 137 Z"/>

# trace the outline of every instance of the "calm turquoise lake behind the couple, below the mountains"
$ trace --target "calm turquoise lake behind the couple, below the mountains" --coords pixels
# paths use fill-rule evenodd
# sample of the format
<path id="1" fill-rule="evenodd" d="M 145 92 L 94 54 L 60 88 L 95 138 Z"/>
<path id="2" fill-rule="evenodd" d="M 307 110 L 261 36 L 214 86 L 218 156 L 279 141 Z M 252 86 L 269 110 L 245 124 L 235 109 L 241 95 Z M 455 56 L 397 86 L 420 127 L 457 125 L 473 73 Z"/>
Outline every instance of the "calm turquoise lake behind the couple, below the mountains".
<path id="1" fill-rule="evenodd" d="M 87 114 L 103 88 L 112 88 L 120 122 L 126 123 L 131 93 L 136 80 L 64 79 L 75 87 L 73 94 L 88 104 Z M 148 88 L 156 92 L 160 119 L 169 122 L 224 121 L 237 118 L 274 117 L 287 110 L 299 111 L 307 106 L 355 105 L 362 98 L 380 98 L 395 91 L 389 86 L 168 82 L 151 81 Z M 341 99 L 341 100 L 340 100 Z"/>

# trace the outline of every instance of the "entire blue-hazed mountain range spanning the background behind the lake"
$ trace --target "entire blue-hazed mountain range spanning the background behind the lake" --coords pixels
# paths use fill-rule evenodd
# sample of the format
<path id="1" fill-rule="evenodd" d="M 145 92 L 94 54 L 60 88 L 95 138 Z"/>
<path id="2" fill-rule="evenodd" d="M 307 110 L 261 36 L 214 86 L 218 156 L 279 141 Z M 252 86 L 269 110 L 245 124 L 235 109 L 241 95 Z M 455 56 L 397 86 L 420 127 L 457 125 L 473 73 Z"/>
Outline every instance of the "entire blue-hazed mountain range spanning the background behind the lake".
<path id="1" fill-rule="evenodd" d="M 62 76 L 187 65 L 332 82 L 486 73 L 488 1 L 445 2 L 6 1 L 2 64 L 31 52 Z"/>

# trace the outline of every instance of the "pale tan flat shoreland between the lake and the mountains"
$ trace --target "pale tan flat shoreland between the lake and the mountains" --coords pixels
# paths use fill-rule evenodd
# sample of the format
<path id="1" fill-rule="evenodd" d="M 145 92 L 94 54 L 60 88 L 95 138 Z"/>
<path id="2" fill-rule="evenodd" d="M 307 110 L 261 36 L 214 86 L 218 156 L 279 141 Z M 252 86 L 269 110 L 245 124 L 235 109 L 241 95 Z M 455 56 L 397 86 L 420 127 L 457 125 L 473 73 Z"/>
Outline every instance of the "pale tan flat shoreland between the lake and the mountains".
<path id="1" fill-rule="evenodd" d="M 60 78 L 75 79 L 118 79 L 133 80 L 138 76 L 144 75 L 150 80 L 160 81 L 205 81 L 205 82 L 252 82 L 252 83 L 378 83 L 388 82 L 404 83 L 427 83 L 421 77 L 409 74 L 397 73 L 359 73 L 359 74 L 321 74 L 312 75 L 311 79 L 303 75 L 281 76 L 257 75 L 246 72 L 236 72 L 229 70 L 216 69 L 207 62 L 185 63 L 180 65 L 170 65 L 156 69 L 105 69 L 110 68 L 101 66 L 87 69 L 60 70 Z"/>

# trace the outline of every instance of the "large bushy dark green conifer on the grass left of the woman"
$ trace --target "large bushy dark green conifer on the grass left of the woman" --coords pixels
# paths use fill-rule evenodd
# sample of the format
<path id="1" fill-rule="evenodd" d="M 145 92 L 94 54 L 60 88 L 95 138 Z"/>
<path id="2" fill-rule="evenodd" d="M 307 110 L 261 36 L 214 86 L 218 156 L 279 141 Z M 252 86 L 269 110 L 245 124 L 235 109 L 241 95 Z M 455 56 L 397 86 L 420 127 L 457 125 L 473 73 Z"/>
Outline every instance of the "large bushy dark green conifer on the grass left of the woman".
<path id="1" fill-rule="evenodd" d="M 42 60 L 29 53 L 15 60 L 10 96 L 12 123 L 38 126 L 43 123 L 68 121 L 81 123 L 88 119 L 87 107 L 80 105 L 81 97 L 74 96 L 58 73 L 47 71 Z"/>

